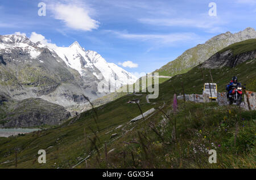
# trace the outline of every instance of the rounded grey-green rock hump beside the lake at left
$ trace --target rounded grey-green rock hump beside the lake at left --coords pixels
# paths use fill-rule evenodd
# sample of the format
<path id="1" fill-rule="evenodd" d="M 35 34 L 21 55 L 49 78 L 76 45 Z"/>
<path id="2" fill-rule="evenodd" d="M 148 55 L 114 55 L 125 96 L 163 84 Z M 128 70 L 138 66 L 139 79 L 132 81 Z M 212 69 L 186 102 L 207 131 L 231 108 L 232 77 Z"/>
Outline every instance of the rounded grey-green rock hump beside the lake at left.
<path id="1" fill-rule="evenodd" d="M 70 113 L 63 106 L 41 98 L 27 98 L 11 104 L 6 118 L 0 120 L 0 127 L 60 125 L 69 117 Z"/>

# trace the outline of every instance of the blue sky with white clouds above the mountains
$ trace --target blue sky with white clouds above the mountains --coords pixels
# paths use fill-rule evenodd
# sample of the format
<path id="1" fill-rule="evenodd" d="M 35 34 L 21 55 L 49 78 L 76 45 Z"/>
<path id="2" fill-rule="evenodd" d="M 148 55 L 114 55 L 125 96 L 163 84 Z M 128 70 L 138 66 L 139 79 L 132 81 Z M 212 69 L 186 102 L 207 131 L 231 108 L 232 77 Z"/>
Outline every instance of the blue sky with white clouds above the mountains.
<path id="1" fill-rule="evenodd" d="M 46 16 L 38 15 L 40 2 L 46 4 Z M 216 3 L 216 16 L 208 13 L 210 2 Z M 255 24 L 256 0 L 2 0 L 0 3 L 1 35 L 26 33 L 27 37 L 33 35 L 35 40 L 43 39 L 57 46 L 78 41 L 106 61 L 138 73 L 152 72 L 220 33 L 255 28 Z"/>

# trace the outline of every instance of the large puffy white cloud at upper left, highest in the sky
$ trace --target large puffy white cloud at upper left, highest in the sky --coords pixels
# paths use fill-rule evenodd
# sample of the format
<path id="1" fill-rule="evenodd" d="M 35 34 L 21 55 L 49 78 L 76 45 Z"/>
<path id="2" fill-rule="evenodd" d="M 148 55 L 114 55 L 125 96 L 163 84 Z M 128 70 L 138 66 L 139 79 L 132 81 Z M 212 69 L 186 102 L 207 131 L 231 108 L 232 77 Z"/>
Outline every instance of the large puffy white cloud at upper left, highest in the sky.
<path id="1" fill-rule="evenodd" d="M 97 20 L 90 18 L 89 8 L 80 4 L 56 3 L 51 5 L 50 9 L 55 19 L 63 21 L 67 27 L 72 29 L 92 31 L 100 24 Z"/>

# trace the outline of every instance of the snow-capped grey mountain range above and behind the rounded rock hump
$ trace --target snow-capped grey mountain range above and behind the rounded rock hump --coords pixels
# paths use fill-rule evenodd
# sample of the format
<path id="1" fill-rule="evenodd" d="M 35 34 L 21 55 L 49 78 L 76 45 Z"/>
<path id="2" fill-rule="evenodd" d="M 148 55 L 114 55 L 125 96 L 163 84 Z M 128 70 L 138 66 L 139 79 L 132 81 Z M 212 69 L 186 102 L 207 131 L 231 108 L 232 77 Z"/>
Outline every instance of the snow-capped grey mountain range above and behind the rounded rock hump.
<path id="1" fill-rule="evenodd" d="M 49 48 L 22 35 L 0 36 L 0 95 L 16 100 L 40 97 L 68 107 L 106 95 L 98 91 L 101 81 L 132 84 L 137 78 L 100 54 L 81 48 Z"/>

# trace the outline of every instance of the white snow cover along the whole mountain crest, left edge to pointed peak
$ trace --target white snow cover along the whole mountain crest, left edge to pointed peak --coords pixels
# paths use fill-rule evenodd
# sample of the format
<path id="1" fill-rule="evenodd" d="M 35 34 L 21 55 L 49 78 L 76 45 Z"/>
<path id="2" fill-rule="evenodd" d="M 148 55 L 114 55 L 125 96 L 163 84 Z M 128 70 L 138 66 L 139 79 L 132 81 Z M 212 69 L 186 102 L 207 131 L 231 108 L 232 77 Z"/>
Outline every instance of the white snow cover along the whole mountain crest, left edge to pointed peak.
<path id="1" fill-rule="evenodd" d="M 48 48 L 44 42 L 32 42 L 26 36 L 21 35 L 5 35 L 1 37 L 0 49 L 5 49 L 11 52 L 14 48 L 21 48 L 25 53 L 30 54 L 32 59 L 37 58 L 41 52 L 40 48 Z M 116 88 L 123 84 L 133 84 L 137 78 L 123 68 L 108 63 L 100 54 L 92 50 L 81 48 L 79 42 L 75 41 L 69 47 L 48 48 L 53 53 L 55 58 L 63 59 L 68 67 L 71 67 L 79 72 L 81 76 L 85 76 L 86 71 L 91 71 L 98 80 L 110 82 Z M 40 61 L 40 63 L 44 63 Z M 57 60 L 57 62 L 60 62 Z"/>

